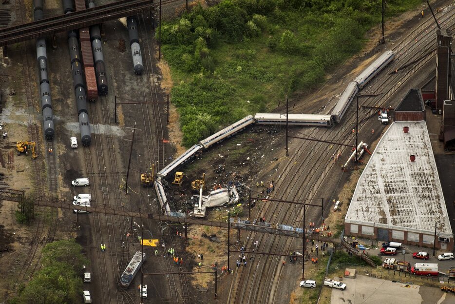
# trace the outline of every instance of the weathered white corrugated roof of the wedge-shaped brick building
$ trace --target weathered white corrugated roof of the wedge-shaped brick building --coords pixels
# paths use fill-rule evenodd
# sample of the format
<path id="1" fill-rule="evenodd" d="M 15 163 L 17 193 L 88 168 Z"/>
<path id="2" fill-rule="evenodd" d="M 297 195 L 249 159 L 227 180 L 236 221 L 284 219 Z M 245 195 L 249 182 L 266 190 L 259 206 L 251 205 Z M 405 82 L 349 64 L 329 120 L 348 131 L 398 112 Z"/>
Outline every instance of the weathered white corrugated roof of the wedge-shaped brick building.
<path id="1" fill-rule="evenodd" d="M 453 236 L 426 123 L 393 122 L 360 176 L 345 222 L 434 233 L 436 221 L 438 235 Z"/>

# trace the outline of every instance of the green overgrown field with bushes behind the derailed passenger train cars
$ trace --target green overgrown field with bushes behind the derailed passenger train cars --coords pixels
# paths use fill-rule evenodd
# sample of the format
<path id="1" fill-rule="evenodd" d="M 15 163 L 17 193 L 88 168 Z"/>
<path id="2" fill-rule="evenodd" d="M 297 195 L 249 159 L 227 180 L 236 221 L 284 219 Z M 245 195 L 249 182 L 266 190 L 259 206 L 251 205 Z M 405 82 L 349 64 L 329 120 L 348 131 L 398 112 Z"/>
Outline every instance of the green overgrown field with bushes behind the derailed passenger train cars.
<path id="1" fill-rule="evenodd" d="M 386 18 L 421 2 L 389 0 Z M 184 145 L 320 85 L 360 51 L 380 12 L 380 0 L 223 0 L 165 22 L 162 51 Z"/>

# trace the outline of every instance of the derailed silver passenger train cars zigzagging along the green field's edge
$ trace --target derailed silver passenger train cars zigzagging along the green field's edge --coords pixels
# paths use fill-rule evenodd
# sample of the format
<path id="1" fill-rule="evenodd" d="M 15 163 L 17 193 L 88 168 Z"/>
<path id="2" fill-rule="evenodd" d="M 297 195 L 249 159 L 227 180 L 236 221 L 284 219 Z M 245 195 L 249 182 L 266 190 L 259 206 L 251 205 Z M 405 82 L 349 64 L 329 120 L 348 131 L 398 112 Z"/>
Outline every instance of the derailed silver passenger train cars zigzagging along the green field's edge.
<path id="1" fill-rule="evenodd" d="M 355 98 L 356 94 L 394 59 L 395 55 L 393 51 L 386 51 L 385 53 L 381 54 L 378 59 L 373 61 L 373 63 L 368 66 L 356 79 L 354 79 L 354 81 L 349 82 L 348 86 L 341 94 L 339 101 L 333 108 L 331 114 L 289 114 L 287 120 L 288 124 L 330 127 L 334 123 L 340 123 L 341 119 L 346 113 L 347 108 Z M 182 155 L 169 163 L 161 171 L 159 171 L 157 173 L 157 178 L 155 178 L 154 181 L 154 188 L 161 208 L 166 212 L 166 214 L 169 214 L 171 212 L 171 209 L 169 207 L 168 198 L 166 197 L 166 193 L 162 185 L 162 179 L 170 176 L 180 166 L 191 160 L 196 155 L 196 153 L 202 151 L 202 149 L 208 149 L 211 145 L 231 137 L 252 123 L 286 124 L 286 114 L 257 113 L 254 117 L 252 115 L 246 116 L 240 121 L 234 122 L 233 124 L 216 132 L 208 138 L 196 143 Z"/>

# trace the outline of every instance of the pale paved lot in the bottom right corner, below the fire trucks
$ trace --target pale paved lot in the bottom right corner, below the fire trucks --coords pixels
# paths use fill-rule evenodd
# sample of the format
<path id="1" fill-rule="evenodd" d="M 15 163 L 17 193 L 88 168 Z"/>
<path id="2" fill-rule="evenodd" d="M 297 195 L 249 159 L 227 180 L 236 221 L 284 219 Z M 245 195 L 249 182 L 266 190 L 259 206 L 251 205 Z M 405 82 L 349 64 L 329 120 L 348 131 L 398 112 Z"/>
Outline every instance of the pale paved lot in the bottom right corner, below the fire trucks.
<path id="1" fill-rule="evenodd" d="M 455 295 L 442 292 L 436 287 L 405 285 L 367 276 L 355 279 L 343 278 L 345 290 L 332 288 L 331 304 L 389 303 L 399 300 L 400 304 L 452 304 Z M 395 299 L 395 300 L 394 300 Z"/>

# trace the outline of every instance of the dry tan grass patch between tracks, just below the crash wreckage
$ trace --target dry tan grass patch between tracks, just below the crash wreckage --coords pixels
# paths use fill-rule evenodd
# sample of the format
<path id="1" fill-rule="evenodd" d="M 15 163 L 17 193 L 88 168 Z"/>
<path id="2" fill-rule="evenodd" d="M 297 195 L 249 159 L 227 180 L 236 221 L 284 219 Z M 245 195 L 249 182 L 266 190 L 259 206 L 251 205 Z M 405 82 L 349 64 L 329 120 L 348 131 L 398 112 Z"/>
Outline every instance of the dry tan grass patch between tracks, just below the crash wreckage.
<path id="1" fill-rule="evenodd" d="M 219 217 L 221 215 L 220 211 L 215 211 L 210 214 L 213 217 Z M 203 237 L 203 234 L 208 236 L 216 235 L 220 242 L 211 242 L 208 238 Z M 235 231 L 231 231 L 231 240 L 235 238 Z M 192 225 L 188 229 L 188 243 L 186 247 L 186 252 L 189 255 L 194 256 L 194 266 L 193 271 L 212 271 L 211 265 L 215 262 L 218 262 L 218 268 L 226 264 L 227 261 L 227 230 L 221 229 L 219 227 L 210 227 L 210 226 L 201 226 L 201 225 Z M 197 255 L 203 254 L 204 260 L 202 261 L 203 265 L 201 268 L 198 267 Z M 200 274 L 191 276 L 191 284 L 196 288 L 208 288 L 209 284 L 214 282 L 213 274 Z"/>

